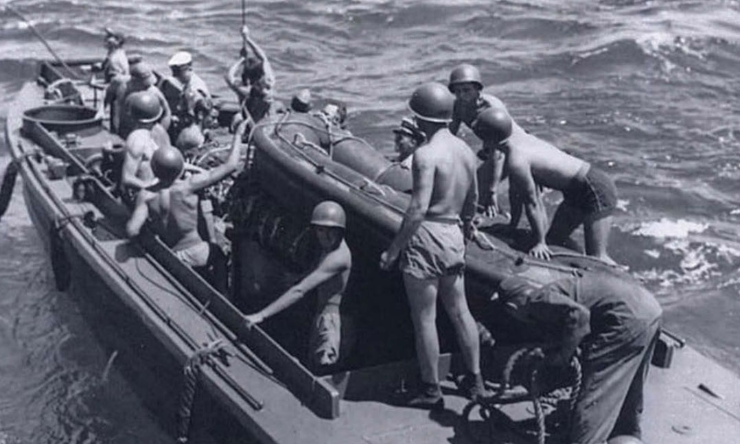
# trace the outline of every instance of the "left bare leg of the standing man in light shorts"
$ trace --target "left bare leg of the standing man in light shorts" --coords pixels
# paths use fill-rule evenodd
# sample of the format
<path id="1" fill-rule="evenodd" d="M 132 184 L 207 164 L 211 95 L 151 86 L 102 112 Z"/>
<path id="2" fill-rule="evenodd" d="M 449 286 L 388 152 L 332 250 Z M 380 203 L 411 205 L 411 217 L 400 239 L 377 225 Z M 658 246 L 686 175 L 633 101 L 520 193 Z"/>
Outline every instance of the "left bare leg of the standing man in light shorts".
<path id="1" fill-rule="evenodd" d="M 414 339 L 421 379 L 425 383 L 440 382 L 440 341 L 437 337 L 437 286 L 436 279 L 417 279 L 403 273 L 406 297 L 414 323 Z"/>

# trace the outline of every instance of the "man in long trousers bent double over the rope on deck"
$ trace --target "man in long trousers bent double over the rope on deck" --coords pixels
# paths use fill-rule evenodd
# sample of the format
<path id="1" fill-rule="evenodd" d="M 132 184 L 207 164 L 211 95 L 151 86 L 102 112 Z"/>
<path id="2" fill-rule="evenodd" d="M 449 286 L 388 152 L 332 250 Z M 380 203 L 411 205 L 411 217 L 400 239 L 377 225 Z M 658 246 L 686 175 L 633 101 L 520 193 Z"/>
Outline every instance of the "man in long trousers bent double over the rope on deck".
<path id="1" fill-rule="evenodd" d="M 639 443 L 642 388 L 662 314 L 655 297 L 636 282 L 602 275 L 567 277 L 542 288 L 508 277 L 499 296 L 514 317 L 555 338 L 545 350 L 553 371 L 581 347 L 582 386 L 564 442 L 612 444 L 630 437 Z"/>

